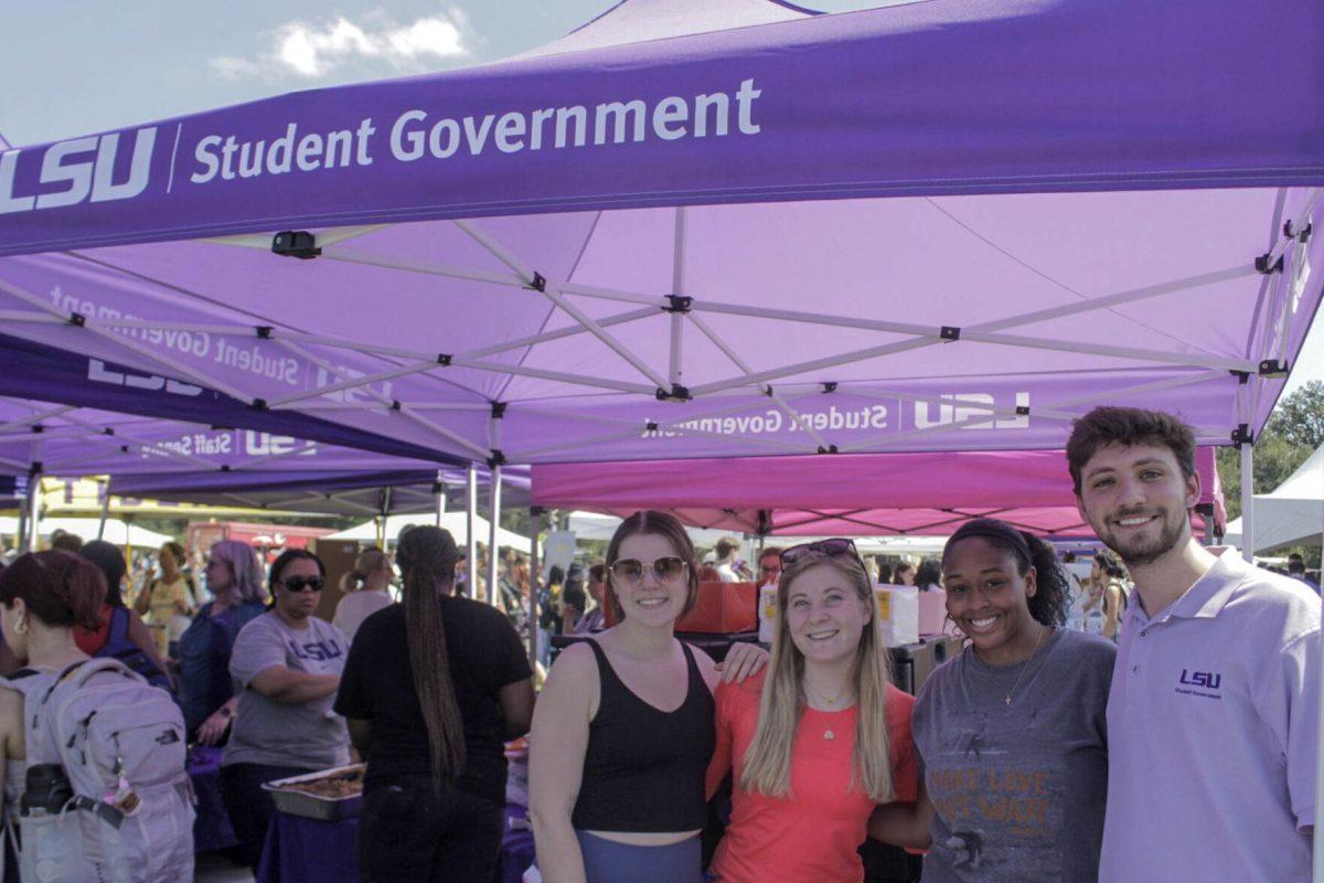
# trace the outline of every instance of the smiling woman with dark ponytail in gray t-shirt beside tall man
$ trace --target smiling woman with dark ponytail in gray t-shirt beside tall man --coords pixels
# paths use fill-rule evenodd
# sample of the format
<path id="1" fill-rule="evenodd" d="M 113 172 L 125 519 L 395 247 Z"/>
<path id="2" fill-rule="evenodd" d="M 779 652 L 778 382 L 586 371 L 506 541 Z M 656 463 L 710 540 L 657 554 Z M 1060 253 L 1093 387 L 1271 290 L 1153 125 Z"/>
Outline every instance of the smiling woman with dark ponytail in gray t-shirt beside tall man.
<path id="1" fill-rule="evenodd" d="M 1094 883 L 1108 784 L 1112 642 L 1062 629 L 1053 548 L 996 519 L 943 552 L 947 612 L 969 637 L 920 690 L 920 800 L 870 834 L 927 847 L 924 883 Z"/>

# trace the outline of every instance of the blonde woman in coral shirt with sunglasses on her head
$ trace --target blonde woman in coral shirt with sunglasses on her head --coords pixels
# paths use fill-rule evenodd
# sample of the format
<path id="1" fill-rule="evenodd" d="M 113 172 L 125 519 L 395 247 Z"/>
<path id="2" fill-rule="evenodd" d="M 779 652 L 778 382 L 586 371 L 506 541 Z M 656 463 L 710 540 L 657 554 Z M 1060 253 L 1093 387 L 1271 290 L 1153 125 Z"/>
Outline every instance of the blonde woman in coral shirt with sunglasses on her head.
<path id="1" fill-rule="evenodd" d="M 888 678 L 874 586 L 855 545 L 781 553 L 765 676 L 718 690 L 708 792 L 733 773 L 722 883 L 859 883 L 858 849 L 879 804 L 915 800 L 911 708 Z"/>

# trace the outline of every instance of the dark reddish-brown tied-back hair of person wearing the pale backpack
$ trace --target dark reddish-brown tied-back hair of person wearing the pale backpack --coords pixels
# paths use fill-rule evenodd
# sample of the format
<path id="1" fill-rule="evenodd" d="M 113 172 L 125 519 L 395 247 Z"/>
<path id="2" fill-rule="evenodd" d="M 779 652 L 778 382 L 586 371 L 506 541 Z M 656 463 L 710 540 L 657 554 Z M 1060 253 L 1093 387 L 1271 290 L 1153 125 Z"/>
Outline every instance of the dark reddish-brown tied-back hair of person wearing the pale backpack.
<path id="1" fill-rule="evenodd" d="M 0 573 L 0 604 L 23 598 L 32 616 L 49 626 L 101 627 L 106 577 L 91 561 L 50 549 L 20 555 Z"/>

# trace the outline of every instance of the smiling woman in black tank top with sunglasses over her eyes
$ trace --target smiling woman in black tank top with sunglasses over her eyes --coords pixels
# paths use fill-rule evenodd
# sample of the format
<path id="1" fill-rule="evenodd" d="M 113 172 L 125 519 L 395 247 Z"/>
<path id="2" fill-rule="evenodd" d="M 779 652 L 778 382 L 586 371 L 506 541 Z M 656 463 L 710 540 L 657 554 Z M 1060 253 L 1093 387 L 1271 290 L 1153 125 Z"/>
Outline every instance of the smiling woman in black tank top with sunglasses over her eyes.
<path id="1" fill-rule="evenodd" d="M 534 712 L 530 815 L 547 883 L 699 883 L 718 670 L 675 638 L 698 597 L 694 545 L 663 512 L 625 519 L 606 549 L 618 625 L 561 653 Z M 723 676 L 765 654 L 736 645 Z"/>

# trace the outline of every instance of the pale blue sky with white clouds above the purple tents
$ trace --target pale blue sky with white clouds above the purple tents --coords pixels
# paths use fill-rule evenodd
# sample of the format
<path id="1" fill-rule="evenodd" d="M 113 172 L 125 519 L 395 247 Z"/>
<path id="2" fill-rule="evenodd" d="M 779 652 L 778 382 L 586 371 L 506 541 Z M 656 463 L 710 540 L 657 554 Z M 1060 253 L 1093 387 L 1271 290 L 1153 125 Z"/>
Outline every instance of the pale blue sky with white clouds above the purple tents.
<path id="1" fill-rule="evenodd" d="M 555 40 L 614 3 L 4 0 L 0 135 L 36 144 L 286 91 L 494 61 Z M 888 5 L 805 3 L 825 12 Z M 1324 320 L 1288 389 L 1311 379 L 1324 379 Z"/>

